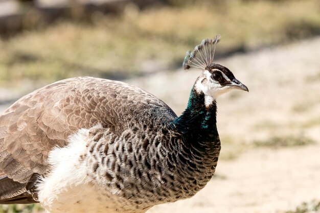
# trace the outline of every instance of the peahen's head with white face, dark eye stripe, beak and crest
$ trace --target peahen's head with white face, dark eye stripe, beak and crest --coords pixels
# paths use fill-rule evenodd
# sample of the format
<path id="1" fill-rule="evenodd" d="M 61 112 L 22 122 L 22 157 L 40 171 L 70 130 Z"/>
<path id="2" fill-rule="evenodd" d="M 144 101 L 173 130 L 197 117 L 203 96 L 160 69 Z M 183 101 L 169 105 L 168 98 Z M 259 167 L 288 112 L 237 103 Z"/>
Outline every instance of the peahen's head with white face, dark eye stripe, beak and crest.
<path id="1" fill-rule="evenodd" d="M 205 105 L 210 105 L 221 94 L 232 89 L 249 91 L 248 88 L 235 78 L 233 73 L 220 64 L 213 63 L 216 45 L 220 35 L 214 39 L 205 39 L 197 45 L 192 53 L 187 52 L 184 69 L 202 70 L 194 88 L 198 93 L 203 92 Z"/>

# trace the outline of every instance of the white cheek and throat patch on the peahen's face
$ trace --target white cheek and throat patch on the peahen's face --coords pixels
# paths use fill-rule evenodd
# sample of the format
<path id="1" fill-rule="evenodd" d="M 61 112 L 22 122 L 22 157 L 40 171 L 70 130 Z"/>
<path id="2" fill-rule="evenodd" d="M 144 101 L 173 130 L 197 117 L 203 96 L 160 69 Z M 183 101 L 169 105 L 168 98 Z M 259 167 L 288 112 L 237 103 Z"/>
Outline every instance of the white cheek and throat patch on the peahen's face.
<path id="1" fill-rule="evenodd" d="M 220 70 L 218 71 L 221 72 Z M 224 79 L 230 81 L 230 79 L 224 73 L 221 72 L 221 74 Z M 208 70 L 204 70 L 195 83 L 196 91 L 202 91 L 204 93 L 204 104 L 207 107 L 210 106 L 219 96 L 221 96 L 221 94 L 231 90 L 230 86 L 221 86 L 218 81 L 215 81 L 211 78 L 211 75 L 212 74 Z"/>

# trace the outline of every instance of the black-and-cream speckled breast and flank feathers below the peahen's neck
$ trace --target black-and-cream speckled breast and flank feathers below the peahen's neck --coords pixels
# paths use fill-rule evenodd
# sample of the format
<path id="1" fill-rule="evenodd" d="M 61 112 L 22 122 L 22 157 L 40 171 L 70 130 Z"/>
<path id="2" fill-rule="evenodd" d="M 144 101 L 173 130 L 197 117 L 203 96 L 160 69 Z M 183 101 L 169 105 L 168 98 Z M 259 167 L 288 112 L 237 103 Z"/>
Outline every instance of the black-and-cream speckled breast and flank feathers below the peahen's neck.
<path id="1" fill-rule="evenodd" d="M 90 137 L 87 173 L 106 195 L 124 198 L 120 211 L 135 212 L 195 195 L 212 178 L 220 151 L 220 143 L 212 149 L 192 144 L 166 126 L 156 132 L 136 126 L 120 137 L 94 128 Z"/>

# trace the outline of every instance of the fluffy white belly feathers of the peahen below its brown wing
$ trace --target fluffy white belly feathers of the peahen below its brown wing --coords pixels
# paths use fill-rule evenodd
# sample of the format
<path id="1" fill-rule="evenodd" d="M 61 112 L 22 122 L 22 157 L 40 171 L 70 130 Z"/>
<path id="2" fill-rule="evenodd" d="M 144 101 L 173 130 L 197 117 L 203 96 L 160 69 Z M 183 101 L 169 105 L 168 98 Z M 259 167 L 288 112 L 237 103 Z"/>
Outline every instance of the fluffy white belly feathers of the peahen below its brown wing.
<path id="1" fill-rule="evenodd" d="M 86 174 L 86 163 L 80 158 L 86 153 L 88 132 L 79 130 L 69 138 L 66 147 L 50 152 L 52 170 L 38 184 L 39 202 L 48 212 L 106 212 L 107 198 L 97 191 Z"/>

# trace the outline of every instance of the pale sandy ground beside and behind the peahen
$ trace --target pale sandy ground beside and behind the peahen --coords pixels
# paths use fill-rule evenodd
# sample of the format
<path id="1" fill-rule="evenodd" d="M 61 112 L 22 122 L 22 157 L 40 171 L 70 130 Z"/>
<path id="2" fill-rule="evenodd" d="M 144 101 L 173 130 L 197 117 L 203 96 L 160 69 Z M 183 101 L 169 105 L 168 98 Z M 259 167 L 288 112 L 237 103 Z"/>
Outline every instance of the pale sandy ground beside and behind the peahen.
<path id="1" fill-rule="evenodd" d="M 250 90 L 232 91 L 218 100 L 221 155 L 231 149 L 235 157 L 222 157 L 215 178 L 193 198 L 148 212 L 272 213 L 293 210 L 303 201 L 320 201 L 319 56 L 317 37 L 217 60 Z M 155 94 L 180 114 L 198 75 L 197 70 L 177 70 L 127 82 Z M 0 90 L 0 96 L 5 94 Z M 315 144 L 278 149 L 253 146 L 255 140 L 272 136 L 301 135 Z"/>

